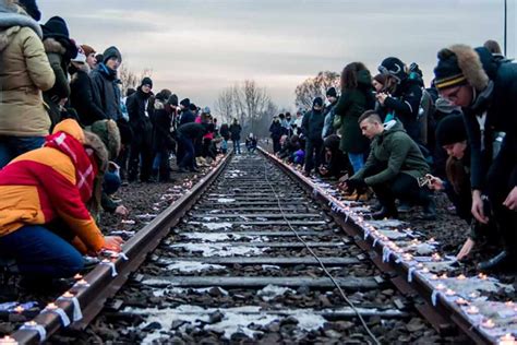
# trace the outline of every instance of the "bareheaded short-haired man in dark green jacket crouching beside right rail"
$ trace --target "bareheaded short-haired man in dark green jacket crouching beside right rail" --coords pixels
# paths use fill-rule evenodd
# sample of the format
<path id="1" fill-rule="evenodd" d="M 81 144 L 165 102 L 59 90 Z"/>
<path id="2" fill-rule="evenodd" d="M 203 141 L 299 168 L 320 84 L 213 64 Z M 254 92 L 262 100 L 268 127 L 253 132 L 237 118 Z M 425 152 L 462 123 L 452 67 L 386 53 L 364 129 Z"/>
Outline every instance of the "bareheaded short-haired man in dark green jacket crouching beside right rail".
<path id="1" fill-rule="evenodd" d="M 368 160 L 356 175 L 345 182 L 346 189 L 363 191 L 371 187 L 382 209 L 373 218 L 397 217 L 395 199 L 423 206 L 424 217 L 436 216 L 436 206 L 429 189 L 419 188 L 418 178 L 429 172 L 417 143 L 397 120 L 384 123 L 374 110 L 368 110 L 358 120 L 362 134 L 372 140 Z"/>

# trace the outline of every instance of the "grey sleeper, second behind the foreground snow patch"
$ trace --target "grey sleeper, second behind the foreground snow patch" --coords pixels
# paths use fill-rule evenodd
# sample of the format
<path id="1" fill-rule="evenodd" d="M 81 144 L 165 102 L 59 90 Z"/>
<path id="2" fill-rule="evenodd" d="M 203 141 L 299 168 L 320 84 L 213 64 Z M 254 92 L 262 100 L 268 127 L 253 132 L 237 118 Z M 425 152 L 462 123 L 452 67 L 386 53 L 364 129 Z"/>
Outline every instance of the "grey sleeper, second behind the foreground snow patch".
<path id="1" fill-rule="evenodd" d="M 173 258 L 173 259 L 166 259 L 167 262 L 170 261 L 195 261 L 195 262 L 203 262 L 203 263 L 212 263 L 212 264 L 240 264 L 240 265 L 254 265 L 254 264 L 270 264 L 270 265 L 280 265 L 280 266 L 290 266 L 290 265 L 318 265 L 316 259 L 313 257 L 304 257 L 304 258 L 291 258 L 291 257 L 278 257 L 278 258 L 270 258 L 270 257 L 209 257 L 209 258 Z M 350 264 L 358 264 L 361 261 L 356 258 L 339 258 L 339 257 L 332 257 L 332 258 L 320 258 L 320 260 L 325 265 L 332 266 L 346 266 Z M 160 259 L 157 260 L 160 263 Z M 166 262 L 164 262 L 165 264 Z"/>

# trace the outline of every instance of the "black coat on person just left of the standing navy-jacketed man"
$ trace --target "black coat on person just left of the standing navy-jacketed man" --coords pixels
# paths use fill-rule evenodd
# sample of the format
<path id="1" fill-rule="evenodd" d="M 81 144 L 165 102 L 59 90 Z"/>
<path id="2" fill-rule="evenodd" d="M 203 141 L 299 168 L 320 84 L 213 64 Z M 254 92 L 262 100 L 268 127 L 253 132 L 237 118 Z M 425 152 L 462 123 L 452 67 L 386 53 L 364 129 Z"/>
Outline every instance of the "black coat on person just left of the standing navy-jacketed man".
<path id="1" fill-rule="evenodd" d="M 95 97 L 92 79 L 85 71 L 76 71 L 70 82 L 70 105 L 77 111 L 82 126 L 106 119 L 99 99 Z"/>

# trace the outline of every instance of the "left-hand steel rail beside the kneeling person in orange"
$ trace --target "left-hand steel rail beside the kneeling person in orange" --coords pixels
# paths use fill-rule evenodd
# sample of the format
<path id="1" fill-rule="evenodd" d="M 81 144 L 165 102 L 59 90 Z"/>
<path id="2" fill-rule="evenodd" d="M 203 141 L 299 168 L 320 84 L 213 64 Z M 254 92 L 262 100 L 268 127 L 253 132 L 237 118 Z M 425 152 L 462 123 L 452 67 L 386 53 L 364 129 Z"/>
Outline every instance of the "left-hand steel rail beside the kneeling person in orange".
<path id="1" fill-rule="evenodd" d="M 212 186 L 230 162 L 230 154 L 223 158 L 216 168 L 203 177 L 190 191 L 175 201 L 149 224 L 136 233 L 122 247 L 128 260 L 119 257 L 111 260 L 117 272 L 112 276 L 111 263 L 98 264 L 89 272 L 84 281 L 86 285 L 75 284 L 69 292 L 76 298 L 81 306 L 82 319 L 72 322 L 74 329 L 84 329 L 100 312 L 106 300 L 112 297 L 128 281 L 129 275 L 136 271 L 144 262 L 147 254 L 159 245 L 161 239 L 187 214 L 192 205 Z M 71 299 L 57 299 L 55 305 L 73 320 L 74 302 Z M 31 325 L 32 324 L 32 325 Z M 31 321 L 31 324 L 19 329 L 11 335 L 17 344 L 39 344 L 51 334 L 64 328 L 62 317 L 58 312 L 43 311 Z M 39 329 L 39 332 L 37 331 Z M 41 332 L 45 335 L 41 338 Z"/>

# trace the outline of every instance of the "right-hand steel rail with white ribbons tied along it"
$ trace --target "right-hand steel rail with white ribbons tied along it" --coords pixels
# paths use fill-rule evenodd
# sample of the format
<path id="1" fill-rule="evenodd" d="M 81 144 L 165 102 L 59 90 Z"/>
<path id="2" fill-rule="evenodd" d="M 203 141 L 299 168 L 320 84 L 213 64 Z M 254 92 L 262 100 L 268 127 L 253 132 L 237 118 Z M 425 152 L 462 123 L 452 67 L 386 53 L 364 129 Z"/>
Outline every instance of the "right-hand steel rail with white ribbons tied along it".
<path id="1" fill-rule="evenodd" d="M 409 265 L 402 263 L 395 263 L 393 261 L 383 262 L 383 248 L 378 243 L 374 246 L 372 237 L 364 238 L 364 234 L 369 233 L 360 224 L 356 223 L 351 217 L 345 218 L 342 214 L 335 212 L 329 207 L 329 203 L 333 200 L 323 193 L 314 193 L 315 186 L 309 178 L 301 176 L 296 172 L 291 167 L 284 164 L 276 156 L 266 152 L 262 147 L 258 147 L 264 156 L 270 162 L 277 165 L 282 171 L 285 171 L 291 179 L 299 182 L 299 185 L 312 197 L 321 203 L 321 205 L 330 212 L 334 221 L 341 227 L 341 229 L 349 236 L 354 238 L 356 243 L 364 251 L 371 253 L 371 259 L 374 264 L 384 273 L 390 276 L 396 275 L 392 278 L 394 285 L 405 295 L 420 295 L 424 300 L 424 306 L 417 308 L 419 312 L 424 317 L 433 328 L 442 335 L 445 335 L 454 331 L 454 325 L 457 326 L 464 334 L 470 337 L 476 344 L 493 344 L 494 338 L 489 337 L 485 333 L 481 332 L 478 326 L 472 324 L 459 310 L 459 308 L 449 301 L 441 298 L 441 295 L 436 298 L 436 305 L 431 306 L 429 301 L 433 296 L 432 285 L 419 275 L 414 275 L 412 281 L 407 281 Z"/>

